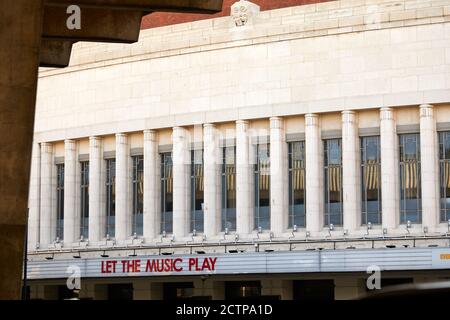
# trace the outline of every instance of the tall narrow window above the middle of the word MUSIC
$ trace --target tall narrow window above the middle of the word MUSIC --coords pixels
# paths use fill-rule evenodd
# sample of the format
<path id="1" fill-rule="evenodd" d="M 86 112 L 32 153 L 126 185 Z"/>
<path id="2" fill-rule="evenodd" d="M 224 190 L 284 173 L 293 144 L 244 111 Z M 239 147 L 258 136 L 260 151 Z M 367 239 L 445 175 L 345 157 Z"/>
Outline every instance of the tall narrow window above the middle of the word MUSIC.
<path id="1" fill-rule="evenodd" d="M 161 233 L 173 230 L 172 153 L 161 153 Z"/>

